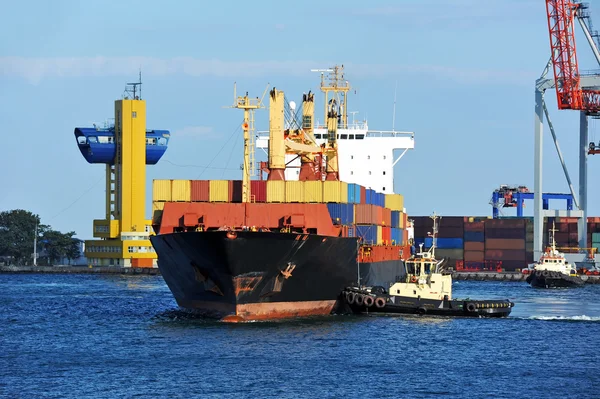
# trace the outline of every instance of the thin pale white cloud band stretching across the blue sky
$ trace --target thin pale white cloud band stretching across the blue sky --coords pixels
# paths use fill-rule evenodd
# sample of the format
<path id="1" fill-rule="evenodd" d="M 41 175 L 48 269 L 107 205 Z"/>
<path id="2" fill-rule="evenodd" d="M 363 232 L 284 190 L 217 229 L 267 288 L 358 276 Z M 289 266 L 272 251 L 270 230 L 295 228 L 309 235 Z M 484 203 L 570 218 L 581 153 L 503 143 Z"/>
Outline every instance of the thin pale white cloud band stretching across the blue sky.
<path id="1" fill-rule="evenodd" d="M 222 61 L 192 57 L 0 57 L 0 77 L 22 78 L 37 84 L 47 77 L 132 76 L 139 68 L 146 76 L 188 75 L 216 77 L 307 76 L 310 69 L 333 65 L 327 61 Z M 539 71 L 490 70 L 442 65 L 346 64 L 352 76 L 397 77 L 442 76 L 461 83 L 499 81 L 509 84 L 530 84 Z"/>

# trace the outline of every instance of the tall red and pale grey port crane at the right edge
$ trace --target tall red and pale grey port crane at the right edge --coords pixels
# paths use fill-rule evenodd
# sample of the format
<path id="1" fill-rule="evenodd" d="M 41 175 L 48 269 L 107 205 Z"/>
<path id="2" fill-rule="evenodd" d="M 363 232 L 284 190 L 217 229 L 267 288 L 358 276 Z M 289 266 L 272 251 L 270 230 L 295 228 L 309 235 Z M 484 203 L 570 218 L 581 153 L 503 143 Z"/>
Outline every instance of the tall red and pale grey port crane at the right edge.
<path id="1" fill-rule="evenodd" d="M 575 22 L 577 21 L 600 64 L 598 34 L 591 29 L 588 6 L 574 0 L 546 0 L 546 16 L 550 37 L 550 60 L 535 90 L 535 146 L 534 146 L 534 256 L 542 253 L 544 216 L 575 216 L 579 218 L 578 236 L 580 248 L 585 248 L 587 236 L 587 156 L 600 153 L 595 144 L 588 140 L 588 117 L 600 116 L 600 75 L 582 75 L 579 72 L 575 45 Z M 596 39 L 596 41 L 594 40 Z M 550 69 L 553 78 L 548 78 Z M 559 110 L 580 111 L 580 152 L 579 152 L 579 196 L 575 195 L 569 172 L 565 165 L 556 132 L 548 108 L 544 102 L 547 89 L 556 91 Z M 565 178 L 577 210 L 547 211 L 543 209 L 542 190 L 542 131 L 544 115 L 563 167 Z"/>

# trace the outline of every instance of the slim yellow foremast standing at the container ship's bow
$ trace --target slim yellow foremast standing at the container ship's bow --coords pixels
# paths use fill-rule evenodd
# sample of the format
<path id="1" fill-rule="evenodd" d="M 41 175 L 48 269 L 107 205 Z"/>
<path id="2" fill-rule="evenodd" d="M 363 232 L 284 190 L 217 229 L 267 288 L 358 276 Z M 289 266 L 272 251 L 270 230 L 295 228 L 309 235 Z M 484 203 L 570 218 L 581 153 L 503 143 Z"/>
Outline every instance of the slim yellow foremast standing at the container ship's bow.
<path id="1" fill-rule="evenodd" d="M 264 107 L 262 106 L 262 99 L 258 97 L 250 98 L 248 97 L 248 92 L 246 92 L 246 95 L 244 96 L 237 96 L 236 84 L 234 83 L 233 105 L 230 108 L 238 108 L 244 110 L 244 121 L 242 122 L 242 130 L 244 131 L 242 202 L 251 202 L 252 193 L 250 190 L 250 176 L 254 175 L 254 110 Z"/>

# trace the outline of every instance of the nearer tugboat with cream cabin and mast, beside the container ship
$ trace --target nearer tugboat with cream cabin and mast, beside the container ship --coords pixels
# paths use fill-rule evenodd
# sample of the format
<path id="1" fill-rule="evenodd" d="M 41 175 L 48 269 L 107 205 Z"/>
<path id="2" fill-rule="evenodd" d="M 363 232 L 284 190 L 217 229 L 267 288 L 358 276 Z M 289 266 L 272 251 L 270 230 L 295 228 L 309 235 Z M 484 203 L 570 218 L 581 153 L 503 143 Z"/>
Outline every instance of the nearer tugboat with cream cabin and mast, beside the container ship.
<path id="1" fill-rule="evenodd" d="M 452 299 L 452 276 L 444 270 L 444 260 L 435 258 L 437 216 L 433 219 L 433 245 L 405 261 L 406 274 L 386 290 L 381 286 L 346 287 L 342 299 L 353 313 L 405 313 L 439 316 L 506 317 L 513 302 L 507 300 Z"/>

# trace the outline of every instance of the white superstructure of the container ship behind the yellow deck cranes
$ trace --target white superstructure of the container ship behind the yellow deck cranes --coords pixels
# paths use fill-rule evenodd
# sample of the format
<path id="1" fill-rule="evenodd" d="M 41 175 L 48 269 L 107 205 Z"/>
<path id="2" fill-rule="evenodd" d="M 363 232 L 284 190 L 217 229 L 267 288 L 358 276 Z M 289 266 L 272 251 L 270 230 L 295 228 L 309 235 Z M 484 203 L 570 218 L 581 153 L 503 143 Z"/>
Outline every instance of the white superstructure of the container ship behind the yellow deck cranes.
<path id="1" fill-rule="evenodd" d="M 327 129 L 316 126 L 317 144 L 325 143 Z M 367 122 L 349 124 L 337 130 L 340 180 L 371 188 L 379 193 L 394 193 L 394 166 L 406 151 L 415 148 L 414 132 L 373 131 Z M 269 132 L 258 132 L 256 148 L 268 153 Z M 394 158 L 394 150 L 402 152 Z M 286 180 L 298 180 L 300 158 L 286 155 Z"/>

